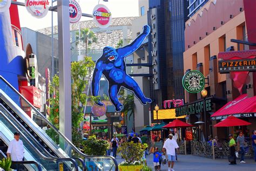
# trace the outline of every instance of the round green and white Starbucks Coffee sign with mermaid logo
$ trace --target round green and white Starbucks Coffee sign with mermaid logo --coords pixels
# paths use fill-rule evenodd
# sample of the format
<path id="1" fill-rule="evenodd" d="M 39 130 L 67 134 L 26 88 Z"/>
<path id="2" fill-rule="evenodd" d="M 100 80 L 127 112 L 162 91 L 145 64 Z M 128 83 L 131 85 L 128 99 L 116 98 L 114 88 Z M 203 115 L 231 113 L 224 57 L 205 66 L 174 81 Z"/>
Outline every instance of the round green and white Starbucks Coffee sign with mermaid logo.
<path id="1" fill-rule="evenodd" d="M 182 85 L 187 92 L 198 93 L 204 89 L 205 77 L 197 70 L 189 71 L 183 76 Z"/>

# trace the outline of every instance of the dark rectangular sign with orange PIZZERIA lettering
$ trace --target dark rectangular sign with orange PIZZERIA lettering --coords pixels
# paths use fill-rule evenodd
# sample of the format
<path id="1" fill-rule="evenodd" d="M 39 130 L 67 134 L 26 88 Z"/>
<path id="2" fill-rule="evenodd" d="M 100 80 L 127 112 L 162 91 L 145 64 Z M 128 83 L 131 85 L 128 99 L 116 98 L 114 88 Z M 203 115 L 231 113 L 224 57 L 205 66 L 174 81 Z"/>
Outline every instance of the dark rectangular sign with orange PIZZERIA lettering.
<path id="1" fill-rule="evenodd" d="M 219 73 L 256 71 L 256 59 L 219 60 Z"/>

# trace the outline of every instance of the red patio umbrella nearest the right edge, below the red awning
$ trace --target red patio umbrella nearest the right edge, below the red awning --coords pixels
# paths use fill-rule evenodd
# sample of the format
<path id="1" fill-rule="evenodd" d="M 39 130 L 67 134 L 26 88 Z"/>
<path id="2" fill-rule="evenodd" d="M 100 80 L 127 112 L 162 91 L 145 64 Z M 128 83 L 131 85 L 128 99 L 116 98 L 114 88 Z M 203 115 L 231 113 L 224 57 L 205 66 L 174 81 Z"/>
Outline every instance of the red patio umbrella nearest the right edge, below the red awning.
<path id="1" fill-rule="evenodd" d="M 250 122 L 235 118 L 234 116 L 229 116 L 214 127 L 229 127 L 229 126 L 242 126 L 242 125 L 251 125 Z"/>

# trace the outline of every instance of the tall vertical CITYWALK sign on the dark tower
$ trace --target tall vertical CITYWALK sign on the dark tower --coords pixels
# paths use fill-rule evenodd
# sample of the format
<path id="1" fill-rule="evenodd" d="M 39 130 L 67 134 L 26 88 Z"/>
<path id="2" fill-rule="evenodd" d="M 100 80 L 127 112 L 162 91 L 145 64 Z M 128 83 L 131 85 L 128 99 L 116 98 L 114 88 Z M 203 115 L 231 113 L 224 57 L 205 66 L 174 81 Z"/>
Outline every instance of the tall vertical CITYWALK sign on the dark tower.
<path id="1" fill-rule="evenodd" d="M 157 43 L 157 9 L 151 9 L 151 56 L 152 56 L 152 84 L 153 89 L 159 89 L 159 73 L 158 73 L 158 43 Z"/>

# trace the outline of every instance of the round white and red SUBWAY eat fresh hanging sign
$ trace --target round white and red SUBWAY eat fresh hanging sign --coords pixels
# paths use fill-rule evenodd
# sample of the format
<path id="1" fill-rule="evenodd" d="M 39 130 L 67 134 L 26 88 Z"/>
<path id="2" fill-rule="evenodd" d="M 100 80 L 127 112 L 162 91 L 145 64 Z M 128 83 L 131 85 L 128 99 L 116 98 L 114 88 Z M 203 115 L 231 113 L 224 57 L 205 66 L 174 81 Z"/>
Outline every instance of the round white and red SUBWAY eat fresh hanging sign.
<path id="1" fill-rule="evenodd" d="M 93 20 L 99 28 L 107 28 L 111 24 L 111 12 L 103 4 L 98 4 L 93 9 Z"/>

